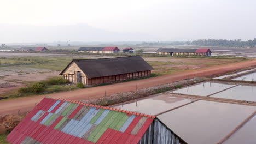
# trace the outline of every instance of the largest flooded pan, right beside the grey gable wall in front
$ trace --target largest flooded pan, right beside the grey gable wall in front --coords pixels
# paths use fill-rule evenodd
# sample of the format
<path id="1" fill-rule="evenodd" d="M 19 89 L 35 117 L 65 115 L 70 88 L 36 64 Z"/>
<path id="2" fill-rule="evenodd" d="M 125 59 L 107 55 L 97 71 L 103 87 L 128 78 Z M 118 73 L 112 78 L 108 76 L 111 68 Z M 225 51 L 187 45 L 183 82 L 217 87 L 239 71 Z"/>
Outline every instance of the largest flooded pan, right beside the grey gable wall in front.
<path id="1" fill-rule="evenodd" d="M 255 110 L 254 106 L 199 100 L 158 118 L 187 143 L 205 144 L 223 139 Z"/>

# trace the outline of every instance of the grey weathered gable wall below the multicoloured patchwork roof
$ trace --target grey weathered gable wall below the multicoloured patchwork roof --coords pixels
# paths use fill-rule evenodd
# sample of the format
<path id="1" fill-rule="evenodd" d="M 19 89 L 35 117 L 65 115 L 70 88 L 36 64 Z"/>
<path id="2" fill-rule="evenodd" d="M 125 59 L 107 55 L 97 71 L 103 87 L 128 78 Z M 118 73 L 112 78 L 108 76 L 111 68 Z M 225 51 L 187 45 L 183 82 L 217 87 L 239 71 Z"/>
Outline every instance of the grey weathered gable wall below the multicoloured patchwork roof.
<path id="1" fill-rule="evenodd" d="M 179 137 L 172 133 L 164 124 L 157 118 L 149 126 L 139 144 L 179 144 L 184 143 L 179 141 Z"/>

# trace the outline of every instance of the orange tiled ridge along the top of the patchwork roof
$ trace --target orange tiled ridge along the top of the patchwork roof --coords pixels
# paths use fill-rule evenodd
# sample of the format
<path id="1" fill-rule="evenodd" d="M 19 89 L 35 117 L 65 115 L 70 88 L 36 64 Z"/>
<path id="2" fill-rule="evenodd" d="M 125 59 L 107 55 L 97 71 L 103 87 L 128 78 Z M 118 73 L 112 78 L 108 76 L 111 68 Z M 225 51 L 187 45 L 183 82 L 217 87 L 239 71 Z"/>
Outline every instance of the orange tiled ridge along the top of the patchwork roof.
<path id="1" fill-rule="evenodd" d="M 115 108 L 113 108 L 113 107 L 100 106 L 100 105 L 93 105 L 93 104 L 86 104 L 86 103 L 83 103 L 83 102 L 80 102 L 80 101 L 75 101 L 75 100 L 68 100 L 68 99 L 62 99 L 62 98 L 51 98 L 51 97 L 46 97 L 46 98 L 57 99 L 57 100 L 62 100 L 62 101 L 68 101 L 68 102 L 71 102 L 71 103 L 76 103 L 76 104 L 79 104 L 79 105 L 85 105 L 85 106 L 96 107 L 96 108 L 99 108 L 99 109 L 106 109 L 106 110 L 124 112 L 124 113 L 127 113 L 127 114 L 136 115 L 136 116 L 141 116 L 141 117 L 156 118 L 156 116 L 152 116 L 152 115 L 146 115 L 146 114 L 137 113 L 137 112 L 131 112 L 131 111 L 126 111 L 126 110 L 115 109 Z"/>

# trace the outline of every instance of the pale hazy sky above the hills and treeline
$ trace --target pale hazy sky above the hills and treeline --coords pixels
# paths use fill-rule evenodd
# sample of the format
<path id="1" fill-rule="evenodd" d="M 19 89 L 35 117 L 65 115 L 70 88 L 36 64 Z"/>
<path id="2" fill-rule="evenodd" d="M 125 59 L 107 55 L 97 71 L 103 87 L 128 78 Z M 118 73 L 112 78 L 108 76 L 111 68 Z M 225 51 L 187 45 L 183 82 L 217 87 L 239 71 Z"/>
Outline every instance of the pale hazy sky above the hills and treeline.
<path id="1" fill-rule="evenodd" d="M 0 5 L 0 23 L 5 24 L 86 23 L 152 35 L 155 41 L 256 37 L 255 0 L 1 0 Z"/>

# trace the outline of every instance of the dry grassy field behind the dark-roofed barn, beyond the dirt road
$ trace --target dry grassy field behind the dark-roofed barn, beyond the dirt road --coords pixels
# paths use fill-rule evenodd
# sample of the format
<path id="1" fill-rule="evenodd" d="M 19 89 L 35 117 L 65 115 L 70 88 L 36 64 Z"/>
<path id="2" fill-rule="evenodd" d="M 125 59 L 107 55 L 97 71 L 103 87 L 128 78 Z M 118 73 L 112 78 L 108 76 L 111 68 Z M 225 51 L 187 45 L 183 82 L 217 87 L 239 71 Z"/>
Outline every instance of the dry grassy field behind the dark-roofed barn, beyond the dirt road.
<path id="1" fill-rule="evenodd" d="M 57 76 L 72 59 L 109 58 L 115 56 L 86 56 L 53 53 L 5 53 L 0 52 L 0 94 L 24 87 L 31 81 L 41 81 Z M 178 74 L 185 71 L 244 61 L 243 59 L 209 59 L 177 57 L 143 57 L 156 75 Z"/>

